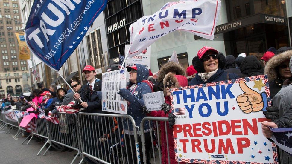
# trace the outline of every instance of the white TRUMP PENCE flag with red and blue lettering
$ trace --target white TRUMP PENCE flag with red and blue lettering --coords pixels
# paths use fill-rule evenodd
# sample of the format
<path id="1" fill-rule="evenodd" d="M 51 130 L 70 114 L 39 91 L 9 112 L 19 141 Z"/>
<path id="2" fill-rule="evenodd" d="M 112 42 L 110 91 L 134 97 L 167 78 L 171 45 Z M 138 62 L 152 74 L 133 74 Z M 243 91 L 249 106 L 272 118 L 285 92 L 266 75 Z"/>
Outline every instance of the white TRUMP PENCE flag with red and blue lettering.
<path id="1" fill-rule="evenodd" d="M 153 15 L 143 16 L 131 24 L 127 58 L 136 56 L 157 39 L 176 30 L 213 40 L 220 6 L 220 0 L 168 2 Z"/>

